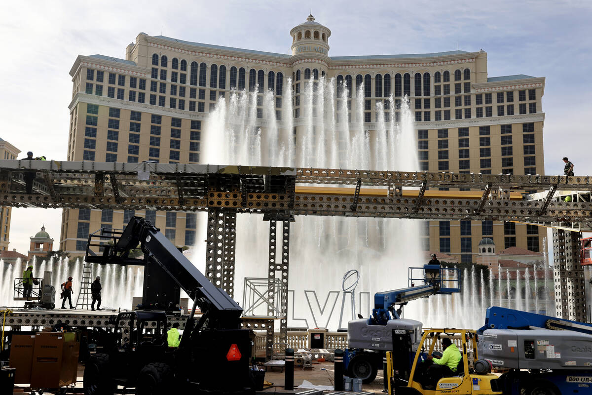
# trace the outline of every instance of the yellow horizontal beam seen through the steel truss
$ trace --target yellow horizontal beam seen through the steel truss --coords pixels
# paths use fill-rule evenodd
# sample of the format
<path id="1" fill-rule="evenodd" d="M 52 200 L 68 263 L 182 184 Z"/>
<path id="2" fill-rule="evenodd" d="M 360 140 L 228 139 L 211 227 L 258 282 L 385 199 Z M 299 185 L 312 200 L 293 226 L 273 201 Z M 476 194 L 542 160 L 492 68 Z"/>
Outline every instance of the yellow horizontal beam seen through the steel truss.
<path id="1" fill-rule="evenodd" d="M 300 195 L 343 195 L 353 196 L 355 188 L 342 187 L 301 187 L 296 186 L 296 194 Z M 417 197 L 418 190 L 403 190 L 403 197 Z M 481 199 L 481 191 L 426 191 L 424 199 Z M 360 188 L 360 196 L 387 197 L 385 188 Z M 519 192 L 510 192 L 510 200 L 522 200 L 522 194 Z"/>

